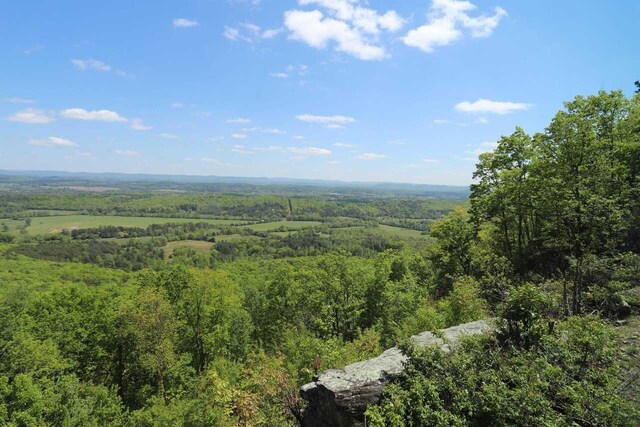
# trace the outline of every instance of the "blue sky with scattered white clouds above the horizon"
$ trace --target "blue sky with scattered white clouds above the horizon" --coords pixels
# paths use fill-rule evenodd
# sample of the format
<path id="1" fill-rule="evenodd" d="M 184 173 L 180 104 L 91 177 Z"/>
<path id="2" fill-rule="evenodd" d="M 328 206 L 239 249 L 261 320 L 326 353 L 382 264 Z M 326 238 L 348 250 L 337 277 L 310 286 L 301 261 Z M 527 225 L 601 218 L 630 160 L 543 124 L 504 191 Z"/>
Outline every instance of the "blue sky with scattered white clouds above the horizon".
<path id="1" fill-rule="evenodd" d="M 639 39 L 632 0 L 6 2 L 0 169 L 466 185 Z"/>

